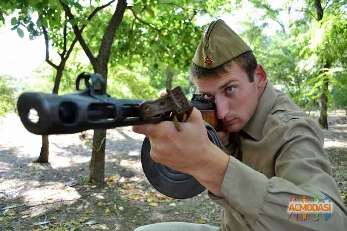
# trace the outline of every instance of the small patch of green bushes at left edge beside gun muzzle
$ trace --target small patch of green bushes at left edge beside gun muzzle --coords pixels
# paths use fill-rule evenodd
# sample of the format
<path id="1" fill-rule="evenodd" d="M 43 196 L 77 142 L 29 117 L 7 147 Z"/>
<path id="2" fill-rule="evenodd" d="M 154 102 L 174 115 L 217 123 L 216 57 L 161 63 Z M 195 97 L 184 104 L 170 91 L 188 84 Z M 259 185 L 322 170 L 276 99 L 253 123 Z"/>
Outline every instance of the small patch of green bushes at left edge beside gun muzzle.
<path id="1" fill-rule="evenodd" d="M 5 116 L 7 112 L 15 109 L 16 88 L 13 85 L 15 80 L 8 75 L 0 75 L 0 116 Z"/>

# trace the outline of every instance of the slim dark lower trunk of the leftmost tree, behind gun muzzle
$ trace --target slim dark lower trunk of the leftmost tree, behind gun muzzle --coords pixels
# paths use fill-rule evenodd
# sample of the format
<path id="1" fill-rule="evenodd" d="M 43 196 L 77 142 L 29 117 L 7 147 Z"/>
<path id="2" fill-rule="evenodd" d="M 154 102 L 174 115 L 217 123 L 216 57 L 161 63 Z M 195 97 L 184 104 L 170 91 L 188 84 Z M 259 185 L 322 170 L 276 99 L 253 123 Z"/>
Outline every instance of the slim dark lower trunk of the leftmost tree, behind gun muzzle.
<path id="1" fill-rule="evenodd" d="M 64 71 L 65 62 L 61 62 L 58 66 L 56 79 L 54 81 L 53 94 L 58 94 L 60 80 L 62 72 Z M 42 146 L 39 157 L 34 161 L 34 163 L 48 163 L 49 148 L 48 148 L 48 135 L 42 136 Z"/>

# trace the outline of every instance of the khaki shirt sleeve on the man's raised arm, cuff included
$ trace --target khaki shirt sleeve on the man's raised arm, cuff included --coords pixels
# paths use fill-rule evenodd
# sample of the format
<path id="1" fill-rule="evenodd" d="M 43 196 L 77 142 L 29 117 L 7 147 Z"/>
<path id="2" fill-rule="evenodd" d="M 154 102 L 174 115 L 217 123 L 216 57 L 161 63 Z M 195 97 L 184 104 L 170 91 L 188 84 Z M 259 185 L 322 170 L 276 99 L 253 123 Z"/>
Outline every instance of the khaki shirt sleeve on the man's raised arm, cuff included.
<path id="1" fill-rule="evenodd" d="M 307 121 L 286 126 L 284 145 L 278 151 L 275 177 L 268 179 L 234 157 L 230 157 L 221 192 L 224 199 L 209 193 L 210 198 L 235 215 L 240 223 L 260 231 L 340 231 L 347 227 L 347 212 L 332 178 L 331 165 L 323 149 L 323 138 Z M 293 196 L 297 201 L 305 195 L 309 202 L 314 197 L 331 200 L 333 212 L 329 219 L 313 213 L 303 221 L 302 214 L 287 209 Z M 243 221 L 240 221 L 239 219 Z"/>

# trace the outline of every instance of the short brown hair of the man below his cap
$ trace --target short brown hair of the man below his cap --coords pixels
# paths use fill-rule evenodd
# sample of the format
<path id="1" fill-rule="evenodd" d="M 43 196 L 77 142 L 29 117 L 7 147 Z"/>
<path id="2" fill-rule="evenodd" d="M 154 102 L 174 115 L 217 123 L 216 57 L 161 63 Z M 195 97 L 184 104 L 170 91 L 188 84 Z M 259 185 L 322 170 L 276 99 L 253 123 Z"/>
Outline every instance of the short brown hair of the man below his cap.
<path id="1" fill-rule="evenodd" d="M 253 74 L 254 70 L 257 67 L 257 59 L 255 58 L 253 52 L 245 52 L 236 58 L 231 59 L 230 61 L 216 67 L 213 69 L 207 69 L 192 63 L 190 65 L 190 80 L 193 82 L 193 79 L 206 79 L 210 78 L 213 75 L 224 74 L 227 72 L 226 67 L 231 66 L 232 63 L 236 63 L 241 69 L 243 69 L 248 76 L 250 82 L 254 81 Z"/>

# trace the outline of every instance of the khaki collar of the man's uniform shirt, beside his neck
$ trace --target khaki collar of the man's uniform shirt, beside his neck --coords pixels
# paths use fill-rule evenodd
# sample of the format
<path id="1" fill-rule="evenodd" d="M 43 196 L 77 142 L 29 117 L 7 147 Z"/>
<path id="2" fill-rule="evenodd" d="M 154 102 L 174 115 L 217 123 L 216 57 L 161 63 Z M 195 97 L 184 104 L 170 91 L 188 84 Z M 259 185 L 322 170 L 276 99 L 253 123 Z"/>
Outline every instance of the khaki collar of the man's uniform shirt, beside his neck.
<path id="1" fill-rule="evenodd" d="M 255 109 L 253 116 L 242 129 L 253 139 L 257 141 L 261 139 L 265 121 L 270 114 L 271 109 L 275 105 L 276 99 L 277 93 L 275 88 L 268 80 L 264 92 L 259 98 L 258 106 Z"/>

